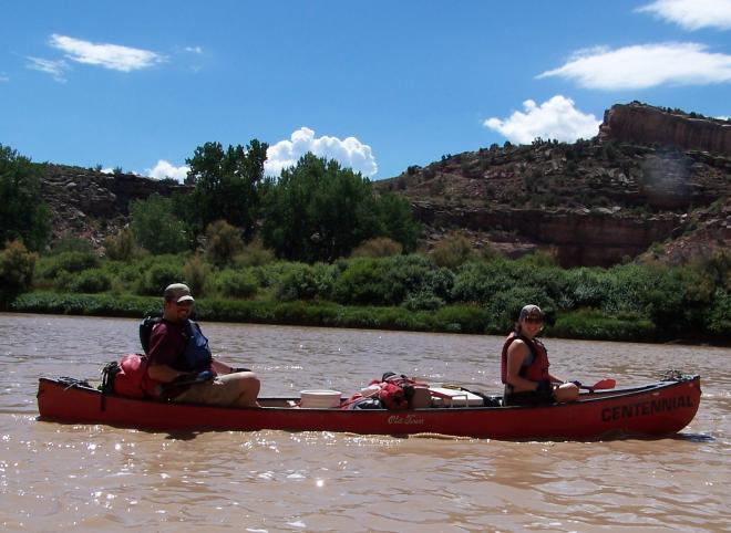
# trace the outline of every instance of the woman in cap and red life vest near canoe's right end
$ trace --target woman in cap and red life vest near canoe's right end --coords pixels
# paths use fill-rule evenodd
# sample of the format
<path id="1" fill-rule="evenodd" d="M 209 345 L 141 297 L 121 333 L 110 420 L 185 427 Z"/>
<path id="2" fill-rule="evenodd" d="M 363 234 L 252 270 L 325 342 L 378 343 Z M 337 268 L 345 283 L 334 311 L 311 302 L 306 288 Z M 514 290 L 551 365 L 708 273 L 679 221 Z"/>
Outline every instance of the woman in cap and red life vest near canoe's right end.
<path id="1" fill-rule="evenodd" d="M 574 401 L 578 386 L 564 383 L 548 372 L 548 353 L 536 335 L 543 330 L 543 311 L 537 305 L 521 310 L 515 331 L 505 339 L 501 356 L 501 377 L 505 384 L 506 406 Z"/>

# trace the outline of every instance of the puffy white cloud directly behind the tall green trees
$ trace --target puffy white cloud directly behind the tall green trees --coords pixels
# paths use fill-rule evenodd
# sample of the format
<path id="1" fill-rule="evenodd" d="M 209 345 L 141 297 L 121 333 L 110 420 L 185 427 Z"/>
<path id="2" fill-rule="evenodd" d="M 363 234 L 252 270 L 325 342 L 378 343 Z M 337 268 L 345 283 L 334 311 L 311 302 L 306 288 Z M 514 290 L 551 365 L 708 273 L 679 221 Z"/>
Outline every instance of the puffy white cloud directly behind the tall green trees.
<path id="1" fill-rule="evenodd" d="M 308 127 L 299 128 L 292 133 L 289 140 L 280 140 L 267 149 L 265 173 L 268 176 L 279 176 L 285 168 L 296 166 L 299 158 L 308 151 L 318 157 L 334 159 L 363 176 L 370 177 L 378 173 L 370 146 L 356 137 L 315 137 L 315 132 Z"/>

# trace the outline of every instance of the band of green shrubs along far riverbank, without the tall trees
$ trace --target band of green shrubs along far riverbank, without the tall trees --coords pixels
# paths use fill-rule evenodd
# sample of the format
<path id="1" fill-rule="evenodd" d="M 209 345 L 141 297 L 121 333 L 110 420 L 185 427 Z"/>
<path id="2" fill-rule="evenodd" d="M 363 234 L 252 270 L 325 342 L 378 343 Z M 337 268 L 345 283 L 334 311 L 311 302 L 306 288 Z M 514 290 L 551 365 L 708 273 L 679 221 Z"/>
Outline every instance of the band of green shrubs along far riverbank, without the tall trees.
<path id="1" fill-rule="evenodd" d="M 442 248 L 460 241 L 453 237 Z M 23 255 L 13 247 L 2 257 Z M 449 266 L 436 260 L 444 254 L 309 264 L 277 260 L 256 243 L 241 245 L 226 263 L 193 252 L 142 252 L 121 261 L 65 250 L 37 258 L 32 284 L 7 309 L 140 317 L 159 313 L 162 289 L 182 280 L 193 288 L 200 320 L 504 334 L 526 302 L 537 302 L 548 314 L 546 333 L 554 336 L 731 338 L 728 253 L 682 268 L 629 263 L 572 270 L 544 253 L 508 260 L 471 252 L 450 258 Z M 25 271 L 28 263 L 22 262 Z"/>

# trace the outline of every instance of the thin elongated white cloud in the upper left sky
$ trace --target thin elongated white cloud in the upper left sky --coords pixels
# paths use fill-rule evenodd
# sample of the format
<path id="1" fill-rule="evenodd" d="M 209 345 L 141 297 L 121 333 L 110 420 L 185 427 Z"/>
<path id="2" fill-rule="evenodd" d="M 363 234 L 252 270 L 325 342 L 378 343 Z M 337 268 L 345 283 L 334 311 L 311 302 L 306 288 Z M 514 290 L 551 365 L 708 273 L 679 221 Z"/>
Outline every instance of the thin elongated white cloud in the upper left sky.
<path id="1" fill-rule="evenodd" d="M 55 33 L 51 35 L 50 44 L 65 52 L 66 58 L 71 61 L 99 65 L 113 71 L 136 71 L 165 61 L 165 58 L 148 50 L 93 43 Z"/>

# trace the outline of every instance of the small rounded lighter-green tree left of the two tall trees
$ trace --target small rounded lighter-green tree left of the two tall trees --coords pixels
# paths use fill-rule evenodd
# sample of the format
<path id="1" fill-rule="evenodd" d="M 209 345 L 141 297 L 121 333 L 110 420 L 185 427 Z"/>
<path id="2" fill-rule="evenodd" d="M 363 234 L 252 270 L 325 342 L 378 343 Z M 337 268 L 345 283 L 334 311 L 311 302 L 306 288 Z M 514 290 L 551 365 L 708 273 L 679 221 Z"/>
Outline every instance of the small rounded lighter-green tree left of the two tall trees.
<path id="1" fill-rule="evenodd" d="M 186 224 L 173 212 L 169 198 L 152 195 L 130 208 L 132 233 L 137 244 L 152 253 L 178 253 L 191 249 Z"/>

